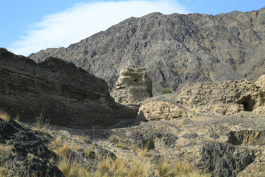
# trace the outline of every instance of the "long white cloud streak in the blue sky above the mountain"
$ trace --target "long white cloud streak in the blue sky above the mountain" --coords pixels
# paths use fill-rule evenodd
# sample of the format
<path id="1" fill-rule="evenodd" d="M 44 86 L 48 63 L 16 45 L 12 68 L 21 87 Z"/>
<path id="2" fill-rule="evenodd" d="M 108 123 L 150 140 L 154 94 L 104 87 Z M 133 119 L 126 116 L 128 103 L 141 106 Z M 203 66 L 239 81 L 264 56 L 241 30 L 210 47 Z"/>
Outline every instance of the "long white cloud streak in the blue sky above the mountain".
<path id="1" fill-rule="evenodd" d="M 27 35 L 12 44 L 9 51 L 28 56 L 46 48 L 67 47 L 130 17 L 152 12 L 189 13 L 176 0 L 129 0 L 78 3 L 65 11 L 45 16 L 30 25 Z"/>

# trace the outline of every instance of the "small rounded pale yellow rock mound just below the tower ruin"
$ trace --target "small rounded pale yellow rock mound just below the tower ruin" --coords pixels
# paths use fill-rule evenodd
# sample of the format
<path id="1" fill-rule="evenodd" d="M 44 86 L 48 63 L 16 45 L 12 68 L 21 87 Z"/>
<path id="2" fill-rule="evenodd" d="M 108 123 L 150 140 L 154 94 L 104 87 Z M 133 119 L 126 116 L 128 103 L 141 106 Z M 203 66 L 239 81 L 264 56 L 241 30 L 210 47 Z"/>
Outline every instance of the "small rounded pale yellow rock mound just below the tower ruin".
<path id="1" fill-rule="evenodd" d="M 154 101 L 139 108 L 137 118 L 142 120 L 172 119 L 186 116 L 185 111 L 169 102 Z"/>

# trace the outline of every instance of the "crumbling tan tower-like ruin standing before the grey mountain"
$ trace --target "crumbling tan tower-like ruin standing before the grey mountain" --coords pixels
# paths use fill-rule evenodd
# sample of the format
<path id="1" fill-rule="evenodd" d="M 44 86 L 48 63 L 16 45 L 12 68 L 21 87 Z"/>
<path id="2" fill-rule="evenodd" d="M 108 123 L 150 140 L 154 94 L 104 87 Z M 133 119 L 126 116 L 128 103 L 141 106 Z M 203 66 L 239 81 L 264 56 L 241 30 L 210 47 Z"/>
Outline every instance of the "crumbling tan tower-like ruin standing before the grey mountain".
<path id="1" fill-rule="evenodd" d="M 146 68 L 132 69 L 123 66 L 111 96 L 116 102 L 138 111 L 140 102 L 153 96 L 152 80 L 147 77 Z"/>

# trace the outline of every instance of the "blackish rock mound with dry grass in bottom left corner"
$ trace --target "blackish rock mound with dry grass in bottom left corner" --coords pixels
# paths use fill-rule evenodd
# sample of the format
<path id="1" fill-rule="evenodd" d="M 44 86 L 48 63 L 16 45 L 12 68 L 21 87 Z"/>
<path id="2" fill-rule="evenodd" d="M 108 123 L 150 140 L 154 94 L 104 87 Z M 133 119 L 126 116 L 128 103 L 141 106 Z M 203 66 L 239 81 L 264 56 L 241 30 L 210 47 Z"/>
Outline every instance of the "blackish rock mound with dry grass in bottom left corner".
<path id="1" fill-rule="evenodd" d="M 32 175 L 38 177 L 62 177 L 62 172 L 49 162 L 51 152 L 43 142 L 15 121 L 6 123 L 0 119 L 0 163 L 8 162 L 7 170 L 12 176 Z M 2 150 L 4 147 L 10 151 Z"/>

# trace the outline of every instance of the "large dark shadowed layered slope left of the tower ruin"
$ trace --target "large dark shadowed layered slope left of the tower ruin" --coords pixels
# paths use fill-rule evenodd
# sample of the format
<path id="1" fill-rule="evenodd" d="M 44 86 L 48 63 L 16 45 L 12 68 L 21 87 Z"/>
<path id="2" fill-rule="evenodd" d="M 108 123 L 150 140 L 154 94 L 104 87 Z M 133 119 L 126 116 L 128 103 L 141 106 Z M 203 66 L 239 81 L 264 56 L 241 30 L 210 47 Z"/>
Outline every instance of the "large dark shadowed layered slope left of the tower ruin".
<path id="1" fill-rule="evenodd" d="M 12 117 L 43 114 L 51 123 L 109 126 L 135 114 L 114 102 L 106 82 L 61 59 L 41 63 L 0 48 L 0 106 Z"/>

